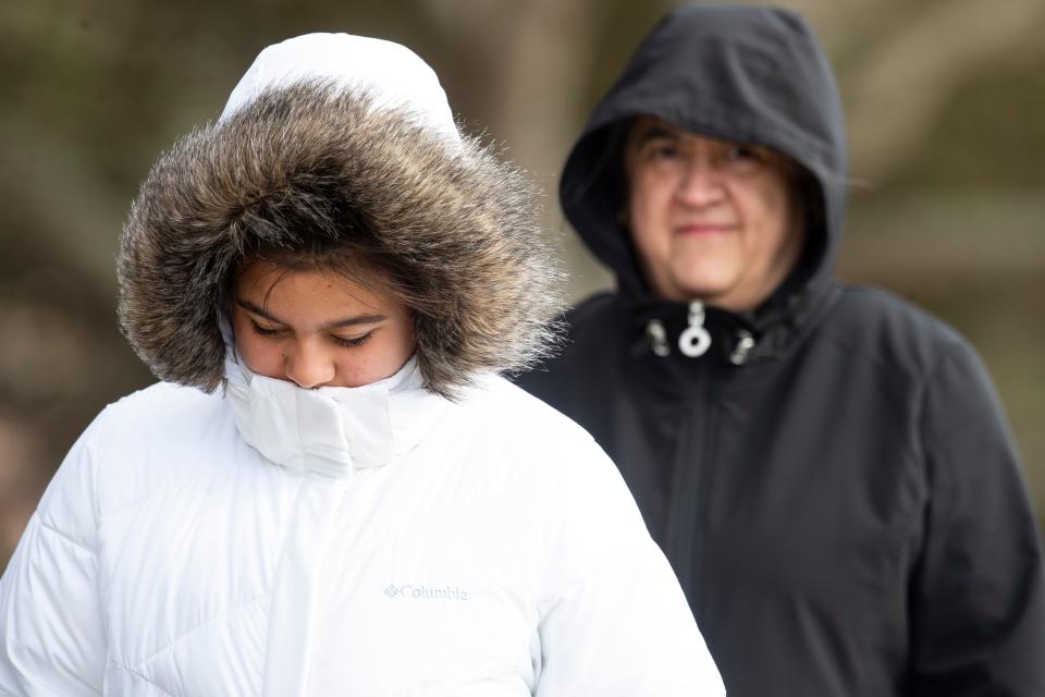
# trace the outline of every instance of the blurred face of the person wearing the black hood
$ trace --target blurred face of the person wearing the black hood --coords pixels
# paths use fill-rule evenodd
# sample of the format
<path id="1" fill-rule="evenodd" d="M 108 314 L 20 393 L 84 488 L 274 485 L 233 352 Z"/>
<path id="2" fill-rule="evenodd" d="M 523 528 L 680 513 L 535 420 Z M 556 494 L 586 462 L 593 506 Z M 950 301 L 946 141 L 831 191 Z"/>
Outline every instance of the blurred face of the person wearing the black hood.
<path id="1" fill-rule="evenodd" d="M 642 118 L 625 168 L 631 239 L 661 297 L 750 310 L 797 266 L 804 213 L 783 155 Z"/>

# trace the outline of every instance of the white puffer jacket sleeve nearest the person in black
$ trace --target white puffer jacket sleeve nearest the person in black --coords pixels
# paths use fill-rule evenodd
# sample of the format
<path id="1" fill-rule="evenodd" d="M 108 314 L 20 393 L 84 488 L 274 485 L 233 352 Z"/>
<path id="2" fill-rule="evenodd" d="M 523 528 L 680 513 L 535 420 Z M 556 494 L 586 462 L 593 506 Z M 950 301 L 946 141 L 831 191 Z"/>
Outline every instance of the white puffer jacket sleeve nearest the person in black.
<path id="1" fill-rule="evenodd" d="M 675 574 L 616 467 L 577 453 L 549 513 L 539 697 L 725 694 Z"/>

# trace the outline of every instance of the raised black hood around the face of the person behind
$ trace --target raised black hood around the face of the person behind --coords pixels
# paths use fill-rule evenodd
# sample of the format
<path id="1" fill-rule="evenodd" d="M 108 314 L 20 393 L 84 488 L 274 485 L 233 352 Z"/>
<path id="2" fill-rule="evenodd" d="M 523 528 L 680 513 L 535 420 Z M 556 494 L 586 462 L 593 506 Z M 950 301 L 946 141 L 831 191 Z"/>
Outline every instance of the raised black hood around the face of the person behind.
<path id="1" fill-rule="evenodd" d="M 800 296 L 826 284 L 843 229 L 845 124 L 831 66 L 801 17 L 776 8 L 678 9 L 639 46 L 592 112 L 566 161 L 560 198 L 581 239 L 634 301 L 649 292 L 617 213 L 624 134 L 638 115 L 764 145 L 804 167 L 820 185 L 822 203 L 815 203 L 823 210 L 810 217 L 802 262 L 785 285 Z"/>

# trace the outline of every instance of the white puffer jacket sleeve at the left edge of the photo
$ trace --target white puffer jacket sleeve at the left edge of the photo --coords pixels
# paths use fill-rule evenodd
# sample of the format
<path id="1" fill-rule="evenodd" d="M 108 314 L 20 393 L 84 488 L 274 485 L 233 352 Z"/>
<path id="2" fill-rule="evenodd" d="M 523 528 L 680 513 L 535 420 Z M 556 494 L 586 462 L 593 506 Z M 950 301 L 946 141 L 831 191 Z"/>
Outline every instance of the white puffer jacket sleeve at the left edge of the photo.
<path id="1" fill-rule="evenodd" d="M 91 433 L 76 442 L 0 578 L 0 695 L 100 695 Z"/>

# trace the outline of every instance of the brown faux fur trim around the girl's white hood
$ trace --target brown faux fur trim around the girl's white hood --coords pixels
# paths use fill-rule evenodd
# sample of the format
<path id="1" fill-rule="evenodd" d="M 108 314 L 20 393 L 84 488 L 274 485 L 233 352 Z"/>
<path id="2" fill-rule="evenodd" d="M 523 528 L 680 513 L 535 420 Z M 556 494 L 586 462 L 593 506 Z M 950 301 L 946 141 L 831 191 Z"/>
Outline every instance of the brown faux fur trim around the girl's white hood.
<path id="1" fill-rule="evenodd" d="M 358 225 L 404 269 L 426 387 L 453 398 L 556 341 L 561 272 L 534 191 L 490 146 L 460 144 L 325 82 L 263 93 L 162 155 L 124 225 L 119 314 L 162 380 L 222 384 L 224 285 L 258 242 L 348 240 Z"/>

